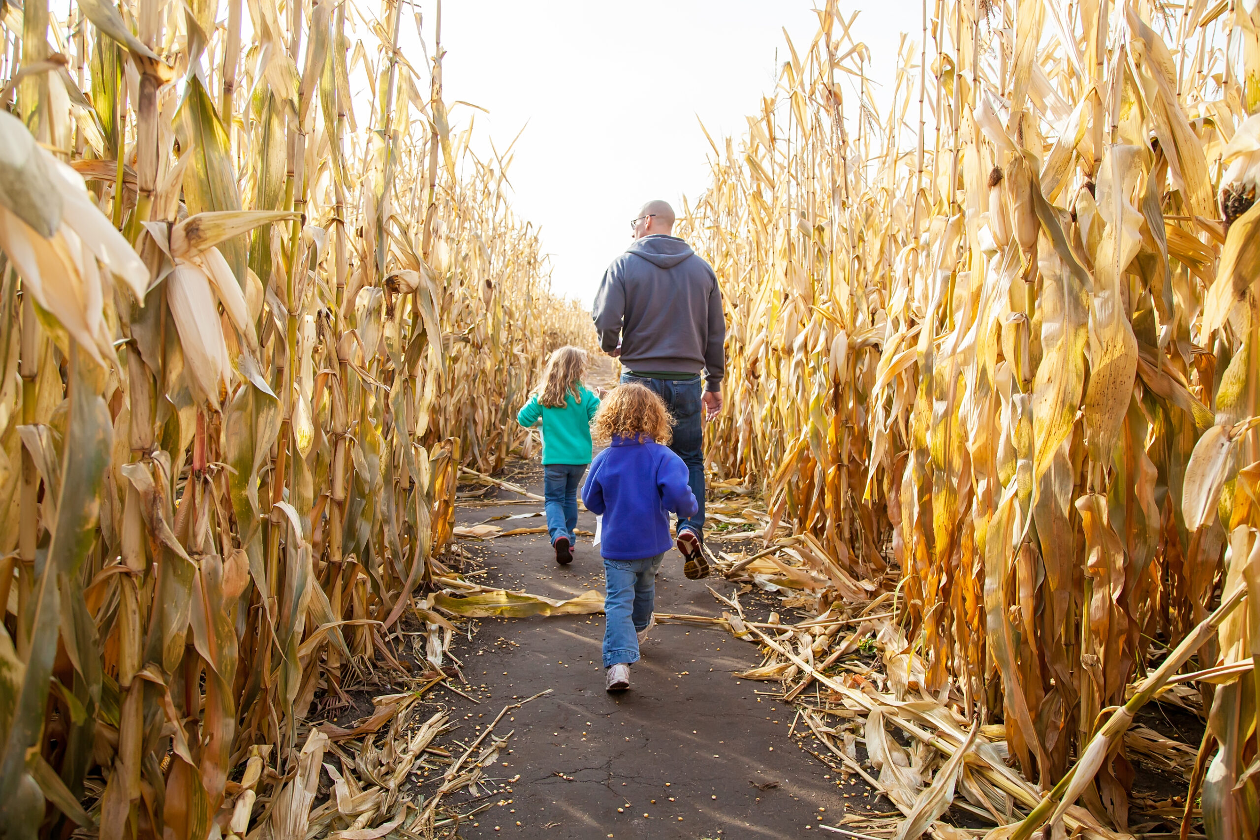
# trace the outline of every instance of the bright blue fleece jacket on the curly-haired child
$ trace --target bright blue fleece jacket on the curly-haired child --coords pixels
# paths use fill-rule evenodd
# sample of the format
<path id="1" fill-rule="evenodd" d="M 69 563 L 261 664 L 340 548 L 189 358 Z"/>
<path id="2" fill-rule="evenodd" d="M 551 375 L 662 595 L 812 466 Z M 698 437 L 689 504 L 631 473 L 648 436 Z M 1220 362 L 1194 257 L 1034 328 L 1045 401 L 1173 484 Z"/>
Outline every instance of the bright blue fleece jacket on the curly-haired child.
<path id="1" fill-rule="evenodd" d="M 582 485 L 582 504 L 604 516 L 600 553 L 610 560 L 640 560 L 669 550 L 669 511 L 693 516 L 699 505 L 687 484 L 683 460 L 650 437 L 612 438 L 595 456 Z"/>

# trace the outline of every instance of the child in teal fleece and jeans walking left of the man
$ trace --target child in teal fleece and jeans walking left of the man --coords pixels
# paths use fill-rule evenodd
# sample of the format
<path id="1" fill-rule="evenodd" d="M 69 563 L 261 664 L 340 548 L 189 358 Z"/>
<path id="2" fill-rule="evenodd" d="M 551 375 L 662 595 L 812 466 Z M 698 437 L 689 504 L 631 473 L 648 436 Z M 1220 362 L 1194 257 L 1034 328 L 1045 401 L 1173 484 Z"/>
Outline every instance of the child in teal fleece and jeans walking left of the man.
<path id="1" fill-rule="evenodd" d="M 547 369 L 529 402 L 517 414 L 524 427 L 543 423 L 543 497 L 547 533 L 556 549 L 556 562 L 573 559 L 573 529 L 577 528 L 577 487 L 591 463 L 591 418 L 600 398 L 582 384 L 586 351 L 564 346 L 551 354 Z"/>

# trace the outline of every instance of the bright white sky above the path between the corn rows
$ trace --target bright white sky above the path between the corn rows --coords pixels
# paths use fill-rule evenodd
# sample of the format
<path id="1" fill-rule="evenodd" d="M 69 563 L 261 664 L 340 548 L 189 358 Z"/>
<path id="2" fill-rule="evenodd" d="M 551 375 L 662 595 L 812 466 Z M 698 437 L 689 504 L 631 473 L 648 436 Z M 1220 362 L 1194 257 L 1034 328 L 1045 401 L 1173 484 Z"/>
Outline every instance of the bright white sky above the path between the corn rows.
<path id="1" fill-rule="evenodd" d="M 822 0 L 820 0 L 822 1 Z M 474 151 L 500 152 L 525 126 L 508 170 L 515 213 L 541 228 L 553 288 L 590 305 L 605 267 L 630 242 L 630 219 L 650 199 L 680 210 L 708 184 L 712 150 L 743 133 L 745 115 L 775 86 L 788 55 L 818 30 L 814 0 L 446 0 L 444 98 L 475 115 Z M 433 4 L 423 3 L 433 47 Z M 863 9 L 854 38 L 871 76 L 891 86 L 898 34 L 917 40 L 921 0 L 842 0 Z M 404 29 L 406 31 L 406 29 Z M 412 31 L 415 31 L 412 29 Z M 404 48 L 406 49 L 406 48 Z M 417 58 L 417 52 L 408 55 Z M 417 69 L 423 58 L 413 60 Z M 847 99 L 849 98 L 847 92 Z M 877 93 L 877 101 L 882 98 Z M 856 102 L 856 97 L 849 99 Z M 883 102 L 879 102 L 883 106 Z"/>

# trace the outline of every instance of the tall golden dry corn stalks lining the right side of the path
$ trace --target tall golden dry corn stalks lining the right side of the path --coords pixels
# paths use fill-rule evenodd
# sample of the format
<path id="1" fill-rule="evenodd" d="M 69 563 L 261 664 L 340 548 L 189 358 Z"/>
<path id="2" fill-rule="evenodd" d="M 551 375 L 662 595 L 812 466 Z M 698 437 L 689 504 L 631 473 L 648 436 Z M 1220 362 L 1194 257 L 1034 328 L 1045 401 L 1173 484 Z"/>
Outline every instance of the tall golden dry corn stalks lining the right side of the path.
<path id="1" fill-rule="evenodd" d="M 731 320 L 713 468 L 822 607 L 895 593 L 914 691 L 1004 722 L 1048 796 L 1000 836 L 1125 829 L 1120 734 L 1197 671 L 1182 837 L 1254 837 L 1260 9 L 925 0 L 882 116 L 856 16 L 684 214 Z"/>

